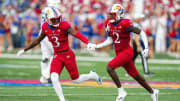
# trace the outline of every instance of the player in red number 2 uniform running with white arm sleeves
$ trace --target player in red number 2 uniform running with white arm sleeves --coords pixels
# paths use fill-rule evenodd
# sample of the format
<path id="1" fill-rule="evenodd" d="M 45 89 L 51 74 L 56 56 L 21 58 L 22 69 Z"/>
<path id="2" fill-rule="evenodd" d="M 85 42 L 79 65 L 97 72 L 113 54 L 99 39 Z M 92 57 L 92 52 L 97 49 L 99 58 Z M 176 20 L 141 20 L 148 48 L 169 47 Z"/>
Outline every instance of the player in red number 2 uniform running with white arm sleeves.
<path id="1" fill-rule="evenodd" d="M 111 76 L 112 80 L 118 88 L 118 96 L 116 101 L 123 101 L 127 93 L 122 88 L 118 75 L 115 69 L 122 66 L 127 73 L 133 77 L 139 84 L 141 84 L 152 96 L 153 101 L 158 101 L 158 90 L 152 89 L 145 79 L 138 73 L 133 63 L 133 49 L 130 46 L 130 32 L 140 34 L 142 40 L 145 43 L 145 49 L 143 50 L 143 56 L 148 56 L 148 42 L 144 31 L 133 26 L 130 19 L 123 19 L 124 9 L 120 4 L 112 5 L 108 10 L 108 20 L 106 21 L 106 31 L 108 38 L 100 44 L 97 44 L 94 48 L 102 48 L 104 46 L 113 44 L 116 52 L 114 57 L 107 65 L 107 72 Z M 93 46 L 92 46 L 93 47 Z M 93 49 L 93 48 L 92 48 Z"/>

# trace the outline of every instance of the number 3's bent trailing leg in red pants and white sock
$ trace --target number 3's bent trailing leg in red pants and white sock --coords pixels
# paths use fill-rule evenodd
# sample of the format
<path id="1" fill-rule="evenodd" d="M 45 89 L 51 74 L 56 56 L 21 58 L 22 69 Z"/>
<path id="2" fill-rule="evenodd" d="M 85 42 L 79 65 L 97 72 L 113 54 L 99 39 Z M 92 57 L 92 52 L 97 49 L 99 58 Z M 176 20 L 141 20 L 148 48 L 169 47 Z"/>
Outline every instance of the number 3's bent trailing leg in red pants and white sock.
<path id="1" fill-rule="evenodd" d="M 95 71 L 90 71 L 88 74 L 79 75 L 74 52 L 70 50 L 65 54 L 69 56 L 69 58 L 66 58 L 65 60 L 65 67 L 74 83 L 81 83 L 89 79 L 96 80 L 98 84 L 102 83 L 100 76 Z"/>

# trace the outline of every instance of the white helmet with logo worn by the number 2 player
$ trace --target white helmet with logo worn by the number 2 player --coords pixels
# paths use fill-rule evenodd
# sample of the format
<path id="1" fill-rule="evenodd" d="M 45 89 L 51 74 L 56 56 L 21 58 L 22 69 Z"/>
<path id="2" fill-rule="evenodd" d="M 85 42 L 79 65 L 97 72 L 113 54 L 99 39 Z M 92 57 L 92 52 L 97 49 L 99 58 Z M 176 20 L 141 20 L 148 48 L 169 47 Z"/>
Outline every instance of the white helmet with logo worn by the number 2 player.
<path id="1" fill-rule="evenodd" d="M 124 17 L 124 8 L 120 4 L 114 4 L 108 9 L 108 19 L 114 23 Z"/>

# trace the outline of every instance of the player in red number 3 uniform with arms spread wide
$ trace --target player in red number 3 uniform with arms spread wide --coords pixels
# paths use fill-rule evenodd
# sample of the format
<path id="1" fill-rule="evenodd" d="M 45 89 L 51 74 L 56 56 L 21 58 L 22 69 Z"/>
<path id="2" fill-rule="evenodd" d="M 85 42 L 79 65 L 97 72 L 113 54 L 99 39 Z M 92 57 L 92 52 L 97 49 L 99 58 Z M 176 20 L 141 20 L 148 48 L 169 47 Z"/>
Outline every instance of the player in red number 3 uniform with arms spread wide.
<path id="1" fill-rule="evenodd" d="M 43 23 L 41 28 L 42 32 L 39 37 L 34 40 L 28 47 L 20 50 L 17 55 L 20 56 L 25 51 L 28 51 L 29 49 L 38 45 L 41 40 L 47 36 L 54 49 L 54 56 L 50 68 L 51 81 L 60 101 L 65 101 L 59 82 L 59 75 L 61 74 L 64 66 L 69 72 L 69 75 L 74 83 L 81 83 L 89 79 L 94 79 L 98 82 L 98 84 L 101 84 L 102 80 L 95 71 L 90 71 L 89 74 L 79 75 L 75 54 L 69 47 L 68 34 L 71 33 L 73 36 L 79 38 L 82 42 L 88 44 L 88 46 L 91 46 L 88 39 L 80 32 L 76 32 L 74 29 L 72 29 L 67 21 L 62 21 L 62 15 L 59 9 L 48 8 L 48 10 L 46 10 L 46 14 L 47 22 Z"/>

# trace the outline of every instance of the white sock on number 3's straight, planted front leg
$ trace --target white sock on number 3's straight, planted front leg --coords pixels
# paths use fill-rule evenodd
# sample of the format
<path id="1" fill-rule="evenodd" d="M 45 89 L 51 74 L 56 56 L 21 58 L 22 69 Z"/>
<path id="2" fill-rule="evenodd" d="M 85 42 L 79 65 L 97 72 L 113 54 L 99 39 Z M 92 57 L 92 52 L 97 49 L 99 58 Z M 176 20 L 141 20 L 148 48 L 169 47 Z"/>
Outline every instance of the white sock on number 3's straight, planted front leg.
<path id="1" fill-rule="evenodd" d="M 59 97 L 59 100 L 65 101 L 63 91 L 62 91 L 62 87 L 61 87 L 61 84 L 59 82 L 59 75 L 57 73 L 53 72 L 51 74 L 51 80 L 52 80 L 53 88 L 56 91 L 57 96 Z"/>

